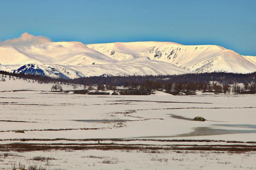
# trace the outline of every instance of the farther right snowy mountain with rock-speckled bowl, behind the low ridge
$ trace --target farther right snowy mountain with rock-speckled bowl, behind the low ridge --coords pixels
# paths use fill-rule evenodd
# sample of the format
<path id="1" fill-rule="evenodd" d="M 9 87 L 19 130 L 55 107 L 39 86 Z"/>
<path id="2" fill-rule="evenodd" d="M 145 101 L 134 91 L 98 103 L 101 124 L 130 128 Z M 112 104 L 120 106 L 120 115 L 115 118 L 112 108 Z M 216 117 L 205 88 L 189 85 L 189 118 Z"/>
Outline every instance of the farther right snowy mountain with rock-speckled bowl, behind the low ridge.
<path id="1" fill-rule="evenodd" d="M 242 56 L 215 45 L 184 46 L 172 42 L 127 42 L 89 44 L 89 48 L 116 60 L 148 56 L 151 60 L 172 63 L 191 72 L 256 71 L 255 57 Z"/>

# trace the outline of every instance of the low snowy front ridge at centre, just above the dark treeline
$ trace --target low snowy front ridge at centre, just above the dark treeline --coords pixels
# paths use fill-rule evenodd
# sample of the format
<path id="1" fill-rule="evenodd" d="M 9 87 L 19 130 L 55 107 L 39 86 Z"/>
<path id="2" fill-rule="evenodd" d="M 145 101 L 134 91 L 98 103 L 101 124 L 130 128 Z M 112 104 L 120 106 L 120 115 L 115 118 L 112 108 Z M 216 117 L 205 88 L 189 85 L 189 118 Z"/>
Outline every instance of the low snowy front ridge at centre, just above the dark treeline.
<path id="1" fill-rule="evenodd" d="M 116 62 L 115 64 L 69 66 L 84 74 L 84 76 L 127 76 L 127 75 L 160 75 L 160 74 L 185 74 L 188 70 L 148 57 L 130 59 Z"/>

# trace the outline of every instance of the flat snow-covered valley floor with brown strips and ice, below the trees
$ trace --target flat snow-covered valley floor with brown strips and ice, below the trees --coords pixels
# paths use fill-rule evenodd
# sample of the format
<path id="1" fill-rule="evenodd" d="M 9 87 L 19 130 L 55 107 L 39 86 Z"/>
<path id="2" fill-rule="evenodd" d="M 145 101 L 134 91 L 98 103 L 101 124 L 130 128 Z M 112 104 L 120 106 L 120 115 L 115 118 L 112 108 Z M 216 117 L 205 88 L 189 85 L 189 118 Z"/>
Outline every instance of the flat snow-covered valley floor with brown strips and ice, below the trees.
<path id="1" fill-rule="evenodd" d="M 255 99 L 0 92 L 0 169 L 256 169 Z"/>

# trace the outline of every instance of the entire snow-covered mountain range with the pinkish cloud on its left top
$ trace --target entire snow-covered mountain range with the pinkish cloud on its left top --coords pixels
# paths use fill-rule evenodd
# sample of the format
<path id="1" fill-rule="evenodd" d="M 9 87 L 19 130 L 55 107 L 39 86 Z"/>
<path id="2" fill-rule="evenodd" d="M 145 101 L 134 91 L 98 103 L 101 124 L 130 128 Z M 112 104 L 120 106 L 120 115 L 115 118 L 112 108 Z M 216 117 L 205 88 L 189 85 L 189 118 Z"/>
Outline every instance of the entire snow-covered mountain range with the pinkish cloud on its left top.
<path id="1" fill-rule="evenodd" d="M 0 70 L 77 78 L 104 75 L 158 75 L 256 71 L 256 57 L 220 46 L 184 46 L 172 42 L 84 45 L 52 42 L 24 33 L 0 42 Z"/>

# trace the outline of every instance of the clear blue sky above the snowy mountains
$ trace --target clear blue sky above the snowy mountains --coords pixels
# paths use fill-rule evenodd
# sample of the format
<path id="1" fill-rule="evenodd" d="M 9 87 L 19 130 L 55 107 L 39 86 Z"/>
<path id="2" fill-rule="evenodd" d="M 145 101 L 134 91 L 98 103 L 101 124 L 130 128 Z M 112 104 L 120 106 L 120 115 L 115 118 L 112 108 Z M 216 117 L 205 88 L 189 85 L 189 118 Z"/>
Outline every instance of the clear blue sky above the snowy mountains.
<path id="1" fill-rule="evenodd" d="M 24 32 L 85 44 L 215 44 L 256 56 L 256 1 L 1 0 L 0 41 Z"/>

